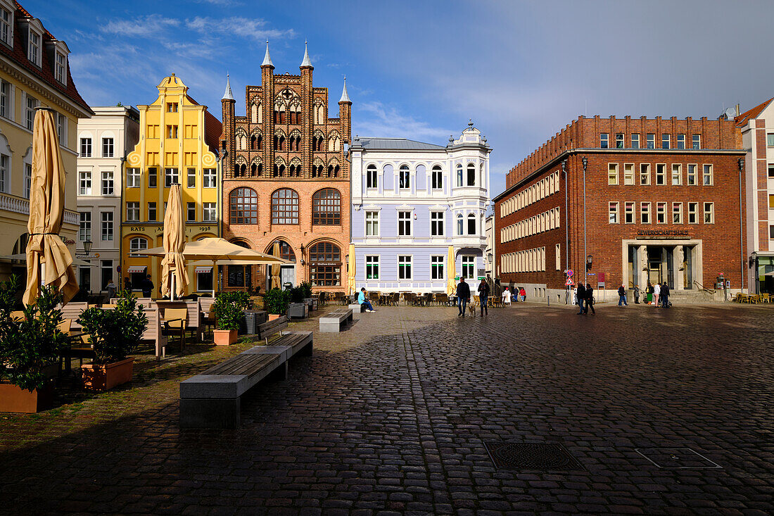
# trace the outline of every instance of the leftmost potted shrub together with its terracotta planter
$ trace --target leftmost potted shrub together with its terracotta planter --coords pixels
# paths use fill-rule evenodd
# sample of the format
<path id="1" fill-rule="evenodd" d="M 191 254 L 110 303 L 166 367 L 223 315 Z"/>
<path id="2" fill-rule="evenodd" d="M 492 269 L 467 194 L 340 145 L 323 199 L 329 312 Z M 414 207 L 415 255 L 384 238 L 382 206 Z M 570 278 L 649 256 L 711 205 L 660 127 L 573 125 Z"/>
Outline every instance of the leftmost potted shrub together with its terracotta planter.
<path id="1" fill-rule="evenodd" d="M 53 381 L 46 369 L 59 358 L 67 335 L 59 331 L 61 301 L 55 287 L 43 287 L 24 317 L 11 317 L 19 277 L 0 284 L 0 412 L 37 412 L 53 402 Z"/>

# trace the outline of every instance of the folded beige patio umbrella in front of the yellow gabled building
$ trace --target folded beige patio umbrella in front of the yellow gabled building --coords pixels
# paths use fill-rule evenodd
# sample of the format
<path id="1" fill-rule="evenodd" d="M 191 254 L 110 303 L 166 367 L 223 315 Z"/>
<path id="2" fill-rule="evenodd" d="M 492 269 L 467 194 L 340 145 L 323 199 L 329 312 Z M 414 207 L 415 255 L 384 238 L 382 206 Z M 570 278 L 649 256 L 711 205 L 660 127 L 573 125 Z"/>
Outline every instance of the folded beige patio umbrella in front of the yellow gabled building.
<path id="1" fill-rule="evenodd" d="M 180 184 L 170 187 L 170 198 L 166 201 L 164 214 L 164 259 L 161 260 L 161 294 L 175 294 L 180 298 L 188 287 L 188 271 L 183 260 L 186 246 L 186 225 L 183 222 L 183 199 Z M 171 285 L 170 285 L 171 283 Z"/>

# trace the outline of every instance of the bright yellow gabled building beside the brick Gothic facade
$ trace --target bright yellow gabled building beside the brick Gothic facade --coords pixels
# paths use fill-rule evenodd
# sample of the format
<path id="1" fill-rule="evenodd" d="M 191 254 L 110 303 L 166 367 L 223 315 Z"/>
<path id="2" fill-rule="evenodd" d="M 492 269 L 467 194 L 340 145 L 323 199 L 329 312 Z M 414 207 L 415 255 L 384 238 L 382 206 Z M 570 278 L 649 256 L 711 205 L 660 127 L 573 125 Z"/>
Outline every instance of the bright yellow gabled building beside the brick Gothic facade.
<path id="1" fill-rule="evenodd" d="M 217 139 L 221 122 L 188 96 L 188 88 L 175 74 L 158 86 L 159 98 L 138 105 L 140 139 L 128 153 L 122 200 L 122 277 L 132 289 L 150 274 L 153 297 L 159 296 L 161 259 L 132 256 L 141 249 L 162 246 L 164 212 L 170 185 L 183 191 L 186 239 L 218 236 L 220 227 L 220 170 Z M 217 278 L 211 267 L 188 267 L 189 293 L 211 291 Z"/>

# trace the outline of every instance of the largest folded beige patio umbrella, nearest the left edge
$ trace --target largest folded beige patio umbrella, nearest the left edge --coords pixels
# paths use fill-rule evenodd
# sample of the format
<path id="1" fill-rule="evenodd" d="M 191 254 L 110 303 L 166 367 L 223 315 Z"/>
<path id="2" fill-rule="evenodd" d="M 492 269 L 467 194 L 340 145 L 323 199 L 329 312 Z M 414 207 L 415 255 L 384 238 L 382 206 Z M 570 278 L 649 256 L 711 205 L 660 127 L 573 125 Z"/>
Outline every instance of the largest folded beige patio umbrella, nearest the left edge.
<path id="1" fill-rule="evenodd" d="M 32 187 L 29 190 L 29 241 L 27 242 L 27 288 L 22 301 L 34 304 L 41 276 L 44 285 L 59 287 L 62 303 L 78 291 L 73 257 L 59 237 L 64 216 L 64 165 L 59 150 L 57 126 L 50 109 L 39 108 L 33 125 Z M 43 271 L 41 264 L 43 263 Z"/>

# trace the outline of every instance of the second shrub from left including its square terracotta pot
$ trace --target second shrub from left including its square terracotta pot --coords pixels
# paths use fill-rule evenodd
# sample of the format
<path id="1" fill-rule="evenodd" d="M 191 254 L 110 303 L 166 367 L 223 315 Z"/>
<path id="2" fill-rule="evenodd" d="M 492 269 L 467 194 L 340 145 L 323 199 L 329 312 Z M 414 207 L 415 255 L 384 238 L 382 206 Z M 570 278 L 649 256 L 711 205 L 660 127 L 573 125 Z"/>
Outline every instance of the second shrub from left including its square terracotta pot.
<path id="1" fill-rule="evenodd" d="M 132 380 L 135 350 L 148 325 L 148 318 L 132 293 L 118 293 L 115 308 L 87 308 L 80 314 L 80 325 L 89 335 L 97 357 L 81 366 L 84 388 L 108 390 Z"/>

